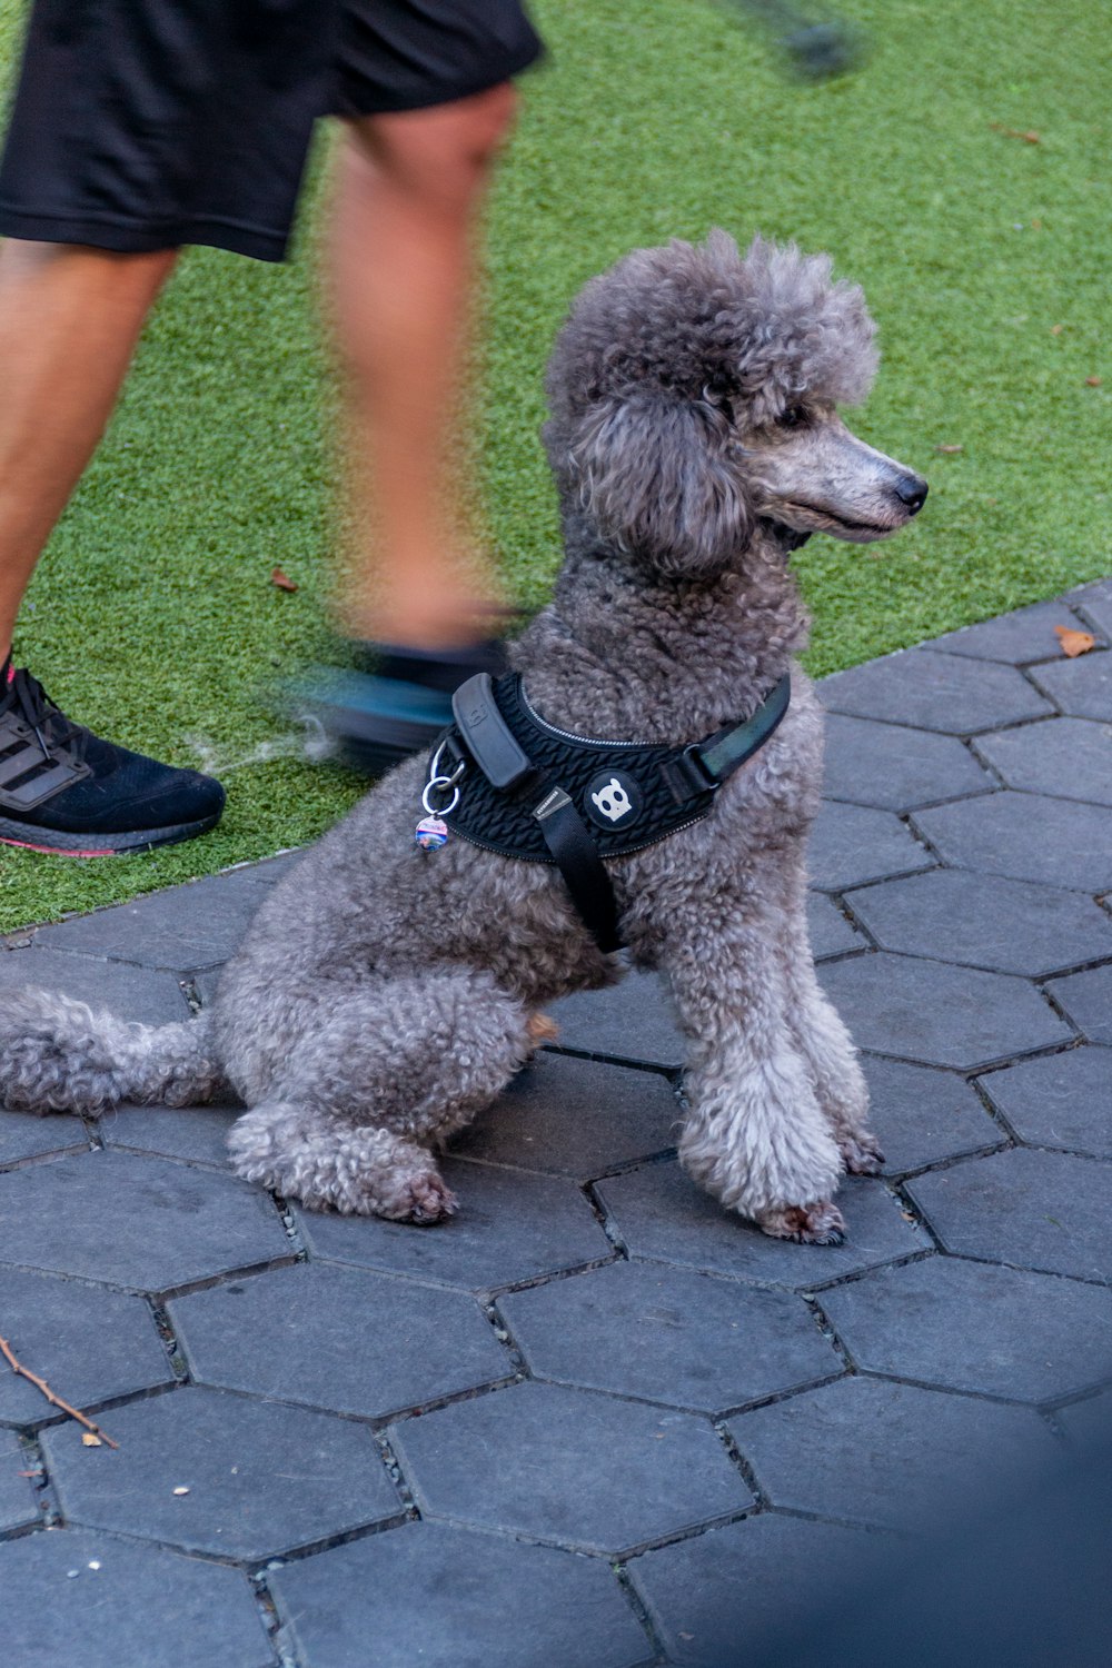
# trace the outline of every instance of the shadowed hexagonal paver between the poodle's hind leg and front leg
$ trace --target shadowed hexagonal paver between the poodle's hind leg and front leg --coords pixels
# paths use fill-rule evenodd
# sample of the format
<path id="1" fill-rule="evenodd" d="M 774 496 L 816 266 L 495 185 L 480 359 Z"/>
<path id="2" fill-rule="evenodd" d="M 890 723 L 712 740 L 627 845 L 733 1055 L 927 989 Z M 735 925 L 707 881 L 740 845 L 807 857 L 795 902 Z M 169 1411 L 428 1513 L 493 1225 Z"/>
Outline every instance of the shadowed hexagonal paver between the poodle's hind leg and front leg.
<path id="1" fill-rule="evenodd" d="M 453 1138 L 452 1151 L 589 1179 L 675 1146 L 679 1118 L 660 1073 L 543 1053 Z"/>

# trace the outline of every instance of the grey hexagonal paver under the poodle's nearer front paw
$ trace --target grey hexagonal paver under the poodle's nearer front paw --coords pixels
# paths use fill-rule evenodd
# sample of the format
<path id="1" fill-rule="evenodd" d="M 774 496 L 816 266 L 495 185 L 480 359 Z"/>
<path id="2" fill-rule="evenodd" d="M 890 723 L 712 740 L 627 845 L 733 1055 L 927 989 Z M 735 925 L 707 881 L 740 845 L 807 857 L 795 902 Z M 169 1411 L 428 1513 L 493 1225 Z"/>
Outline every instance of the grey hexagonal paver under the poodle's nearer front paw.
<path id="1" fill-rule="evenodd" d="M 824 1281 L 930 1246 L 927 1236 L 904 1219 L 899 1201 L 879 1181 L 854 1179 L 839 1188 L 847 1228 L 845 1244 L 840 1246 L 770 1239 L 697 1188 L 675 1161 L 610 1176 L 595 1191 L 612 1231 L 620 1234 L 630 1256 L 792 1291 L 809 1291 Z"/>

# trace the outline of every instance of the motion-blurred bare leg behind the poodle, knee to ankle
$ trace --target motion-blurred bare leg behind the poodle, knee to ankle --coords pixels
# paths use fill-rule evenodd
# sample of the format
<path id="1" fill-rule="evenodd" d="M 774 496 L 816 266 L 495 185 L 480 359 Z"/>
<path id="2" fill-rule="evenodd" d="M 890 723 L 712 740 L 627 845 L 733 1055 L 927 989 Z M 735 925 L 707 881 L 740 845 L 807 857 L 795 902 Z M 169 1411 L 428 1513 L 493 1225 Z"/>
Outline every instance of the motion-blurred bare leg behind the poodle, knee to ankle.
<path id="1" fill-rule="evenodd" d="M 443 649 L 488 636 L 493 580 L 448 490 L 465 432 L 475 222 L 515 108 L 508 83 L 350 125 L 338 163 L 332 307 L 347 369 L 360 552 L 347 624 Z M 453 502 L 455 497 L 455 502 Z M 470 547 L 470 549 L 468 549 Z"/>

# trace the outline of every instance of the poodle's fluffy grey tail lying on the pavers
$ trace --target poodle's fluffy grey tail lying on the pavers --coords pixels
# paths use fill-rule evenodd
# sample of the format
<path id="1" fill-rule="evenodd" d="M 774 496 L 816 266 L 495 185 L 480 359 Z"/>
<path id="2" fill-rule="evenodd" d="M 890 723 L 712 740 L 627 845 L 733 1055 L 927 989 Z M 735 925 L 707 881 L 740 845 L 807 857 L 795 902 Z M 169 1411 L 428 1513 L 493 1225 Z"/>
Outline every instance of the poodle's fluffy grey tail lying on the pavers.
<path id="1" fill-rule="evenodd" d="M 207 1014 L 140 1026 L 52 991 L 0 991 L 0 1106 L 12 1113 L 193 1106 L 222 1088 Z"/>

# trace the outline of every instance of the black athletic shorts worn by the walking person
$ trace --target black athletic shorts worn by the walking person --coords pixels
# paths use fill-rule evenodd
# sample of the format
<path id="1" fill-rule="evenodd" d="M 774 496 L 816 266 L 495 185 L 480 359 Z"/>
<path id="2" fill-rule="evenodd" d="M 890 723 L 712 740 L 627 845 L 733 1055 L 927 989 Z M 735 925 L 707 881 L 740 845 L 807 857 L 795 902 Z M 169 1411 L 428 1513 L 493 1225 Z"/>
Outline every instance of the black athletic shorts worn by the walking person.
<path id="1" fill-rule="evenodd" d="M 518 0 L 35 0 L 0 234 L 280 260 L 318 115 L 467 98 L 540 50 Z"/>

